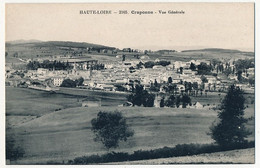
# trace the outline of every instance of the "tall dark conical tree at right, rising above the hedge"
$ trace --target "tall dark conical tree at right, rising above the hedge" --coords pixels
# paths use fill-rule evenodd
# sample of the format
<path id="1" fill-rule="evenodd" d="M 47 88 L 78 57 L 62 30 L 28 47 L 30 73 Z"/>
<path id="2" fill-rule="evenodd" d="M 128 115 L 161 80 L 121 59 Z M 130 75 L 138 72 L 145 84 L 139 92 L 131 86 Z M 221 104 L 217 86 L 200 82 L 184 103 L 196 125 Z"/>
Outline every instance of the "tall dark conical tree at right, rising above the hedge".
<path id="1" fill-rule="evenodd" d="M 244 103 L 243 91 L 231 85 L 219 109 L 219 122 L 210 128 L 211 137 L 224 149 L 247 142 L 245 138 L 251 134 L 245 127 Z"/>

